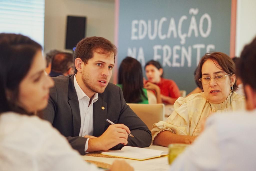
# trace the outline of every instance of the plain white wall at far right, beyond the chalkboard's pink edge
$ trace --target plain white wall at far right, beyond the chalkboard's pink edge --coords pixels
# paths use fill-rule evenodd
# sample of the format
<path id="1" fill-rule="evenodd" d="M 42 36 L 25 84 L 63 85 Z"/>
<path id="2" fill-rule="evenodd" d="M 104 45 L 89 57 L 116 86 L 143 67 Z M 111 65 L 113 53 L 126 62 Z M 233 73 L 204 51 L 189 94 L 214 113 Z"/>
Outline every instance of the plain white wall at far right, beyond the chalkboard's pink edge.
<path id="1" fill-rule="evenodd" d="M 236 56 L 256 36 L 256 1 L 237 0 Z"/>

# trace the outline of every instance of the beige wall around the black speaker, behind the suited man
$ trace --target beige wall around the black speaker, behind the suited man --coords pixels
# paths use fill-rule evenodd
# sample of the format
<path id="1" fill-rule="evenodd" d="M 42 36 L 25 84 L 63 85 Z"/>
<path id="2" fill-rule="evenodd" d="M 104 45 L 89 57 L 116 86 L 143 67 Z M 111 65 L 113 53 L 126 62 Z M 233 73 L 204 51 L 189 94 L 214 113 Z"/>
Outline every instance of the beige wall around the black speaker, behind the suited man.
<path id="1" fill-rule="evenodd" d="M 86 36 L 114 42 L 113 0 L 45 0 L 44 52 L 65 50 L 67 16 L 86 16 Z"/>

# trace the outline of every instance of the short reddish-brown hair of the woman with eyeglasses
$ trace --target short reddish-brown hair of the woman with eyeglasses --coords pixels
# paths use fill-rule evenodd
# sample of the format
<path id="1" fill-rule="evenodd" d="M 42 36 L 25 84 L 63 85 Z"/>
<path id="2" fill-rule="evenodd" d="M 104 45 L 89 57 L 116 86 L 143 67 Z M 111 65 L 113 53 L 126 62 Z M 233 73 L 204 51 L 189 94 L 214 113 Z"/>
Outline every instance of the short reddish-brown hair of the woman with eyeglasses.
<path id="1" fill-rule="evenodd" d="M 236 73 L 236 66 L 232 59 L 226 55 L 225 53 L 222 52 L 210 52 L 206 53 L 200 60 L 197 70 L 196 70 L 196 75 L 195 75 L 195 81 L 197 82 L 198 85 L 200 85 L 200 88 L 202 89 L 202 83 L 199 81 L 199 79 L 202 77 L 202 65 L 207 61 L 208 59 L 211 59 L 214 63 L 217 62 L 217 64 L 222 68 L 221 70 L 225 71 L 227 74 L 232 74 Z M 216 63 L 215 63 L 216 65 Z M 217 65 L 216 65 L 217 66 Z M 218 66 L 217 66 L 218 67 Z M 235 81 L 233 85 L 233 90 L 232 93 L 237 90 L 237 82 Z M 230 89 L 232 89 L 230 87 Z"/>

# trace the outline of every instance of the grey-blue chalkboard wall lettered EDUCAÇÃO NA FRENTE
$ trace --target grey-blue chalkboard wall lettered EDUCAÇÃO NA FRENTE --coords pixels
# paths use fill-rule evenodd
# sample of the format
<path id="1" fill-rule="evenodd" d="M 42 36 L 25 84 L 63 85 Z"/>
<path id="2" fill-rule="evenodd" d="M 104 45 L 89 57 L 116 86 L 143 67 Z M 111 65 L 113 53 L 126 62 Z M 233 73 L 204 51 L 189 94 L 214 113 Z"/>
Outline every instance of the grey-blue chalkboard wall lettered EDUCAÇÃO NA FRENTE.
<path id="1" fill-rule="evenodd" d="M 120 0 L 118 66 L 126 56 L 157 60 L 164 77 L 189 93 L 208 51 L 229 54 L 231 0 Z M 145 73 L 144 73 L 145 76 Z"/>

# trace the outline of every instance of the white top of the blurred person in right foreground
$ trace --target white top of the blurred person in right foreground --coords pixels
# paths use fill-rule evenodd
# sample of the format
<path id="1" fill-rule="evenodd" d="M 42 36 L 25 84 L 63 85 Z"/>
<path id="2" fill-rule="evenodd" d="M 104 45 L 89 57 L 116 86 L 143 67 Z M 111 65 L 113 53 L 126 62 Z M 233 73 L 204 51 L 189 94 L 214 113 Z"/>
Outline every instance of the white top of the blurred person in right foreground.
<path id="1" fill-rule="evenodd" d="M 255 170 L 256 110 L 214 114 L 171 170 Z"/>

